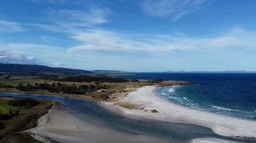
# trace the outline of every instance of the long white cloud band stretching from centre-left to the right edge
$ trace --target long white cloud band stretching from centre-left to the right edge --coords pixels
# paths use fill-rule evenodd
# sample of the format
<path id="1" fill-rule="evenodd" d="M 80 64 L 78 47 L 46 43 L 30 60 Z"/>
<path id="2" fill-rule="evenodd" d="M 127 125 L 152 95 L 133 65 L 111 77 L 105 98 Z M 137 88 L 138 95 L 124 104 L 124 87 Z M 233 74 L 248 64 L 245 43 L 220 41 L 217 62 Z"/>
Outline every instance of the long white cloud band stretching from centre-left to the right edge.
<path id="1" fill-rule="evenodd" d="M 86 50 L 117 50 L 117 51 L 210 51 L 220 48 L 243 47 L 254 48 L 256 32 L 249 32 L 241 28 L 233 28 L 219 36 L 207 38 L 177 35 L 135 35 L 114 32 L 110 30 L 93 29 L 75 33 L 72 38 L 83 42 L 79 46 L 71 47 L 68 52 Z"/>

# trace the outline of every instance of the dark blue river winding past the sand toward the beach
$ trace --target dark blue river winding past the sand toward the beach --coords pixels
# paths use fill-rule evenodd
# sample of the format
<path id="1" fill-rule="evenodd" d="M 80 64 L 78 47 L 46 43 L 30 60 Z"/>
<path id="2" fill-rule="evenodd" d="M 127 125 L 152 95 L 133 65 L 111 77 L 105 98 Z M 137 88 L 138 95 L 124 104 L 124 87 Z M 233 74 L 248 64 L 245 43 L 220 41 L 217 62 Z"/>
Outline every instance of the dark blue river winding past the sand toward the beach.
<path id="1" fill-rule="evenodd" d="M 45 96 L 33 94 L 0 93 L 0 96 L 41 98 L 60 101 L 68 111 L 78 119 L 87 121 L 102 128 L 110 128 L 137 135 L 151 135 L 164 138 L 170 142 L 190 142 L 195 138 L 220 138 L 233 141 L 252 142 L 220 136 L 211 129 L 183 123 L 172 123 L 155 120 L 135 120 L 109 111 L 98 105 L 96 101 Z"/>

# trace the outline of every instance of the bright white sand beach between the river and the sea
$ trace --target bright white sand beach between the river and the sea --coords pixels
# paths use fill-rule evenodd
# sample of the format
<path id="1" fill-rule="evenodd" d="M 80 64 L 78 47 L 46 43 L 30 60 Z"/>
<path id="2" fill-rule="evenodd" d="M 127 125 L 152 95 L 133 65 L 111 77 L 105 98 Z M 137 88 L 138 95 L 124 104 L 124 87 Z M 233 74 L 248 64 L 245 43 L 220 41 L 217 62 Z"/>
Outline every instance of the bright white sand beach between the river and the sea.
<path id="1" fill-rule="evenodd" d="M 153 92 L 154 90 L 154 86 L 139 88 L 137 91 L 131 92 L 127 97 L 121 99 L 121 102 L 143 103 L 145 105 L 144 109 L 156 109 L 159 111 L 158 113 L 117 107 L 113 105 L 113 102 L 100 102 L 100 105 L 113 111 L 117 111 L 118 108 L 119 112 L 130 118 L 144 117 L 160 121 L 190 123 L 211 128 L 220 135 L 256 137 L 255 121 L 222 116 L 170 103 L 157 97 Z"/>

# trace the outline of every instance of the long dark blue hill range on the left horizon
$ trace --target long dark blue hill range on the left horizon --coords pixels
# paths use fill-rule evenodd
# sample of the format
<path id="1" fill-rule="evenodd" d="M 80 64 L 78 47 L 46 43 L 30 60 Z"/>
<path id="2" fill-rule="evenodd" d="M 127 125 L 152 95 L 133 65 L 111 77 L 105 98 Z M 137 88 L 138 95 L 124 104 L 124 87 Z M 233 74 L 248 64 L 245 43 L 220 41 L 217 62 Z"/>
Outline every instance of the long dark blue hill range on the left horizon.
<path id="1" fill-rule="evenodd" d="M 59 73 L 59 74 L 81 74 L 92 73 L 87 70 L 76 70 L 68 68 L 53 68 L 41 65 L 20 65 L 20 64 L 1 64 L 0 72 L 31 74 L 31 73 Z"/>

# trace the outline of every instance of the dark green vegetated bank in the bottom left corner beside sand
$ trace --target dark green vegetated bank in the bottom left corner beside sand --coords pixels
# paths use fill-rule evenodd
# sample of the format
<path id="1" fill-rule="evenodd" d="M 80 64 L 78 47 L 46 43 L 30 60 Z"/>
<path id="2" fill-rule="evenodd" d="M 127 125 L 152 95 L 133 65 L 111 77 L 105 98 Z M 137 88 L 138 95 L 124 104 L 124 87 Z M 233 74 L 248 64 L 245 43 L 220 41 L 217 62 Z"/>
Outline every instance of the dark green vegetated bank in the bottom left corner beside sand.
<path id="1" fill-rule="evenodd" d="M 0 143 L 40 141 L 18 133 L 37 126 L 37 120 L 47 113 L 54 101 L 30 98 L 0 98 Z"/>

